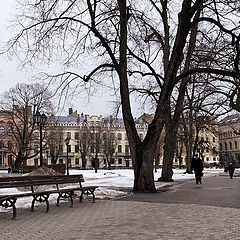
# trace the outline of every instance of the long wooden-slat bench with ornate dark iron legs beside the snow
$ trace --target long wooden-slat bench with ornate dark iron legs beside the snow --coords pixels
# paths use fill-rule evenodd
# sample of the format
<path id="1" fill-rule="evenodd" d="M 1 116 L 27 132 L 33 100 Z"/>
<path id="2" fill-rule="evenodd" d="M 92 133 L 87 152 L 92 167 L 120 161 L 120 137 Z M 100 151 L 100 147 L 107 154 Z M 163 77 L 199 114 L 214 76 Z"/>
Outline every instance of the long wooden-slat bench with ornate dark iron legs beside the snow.
<path id="1" fill-rule="evenodd" d="M 32 196 L 31 211 L 34 211 L 35 202 L 46 202 L 46 212 L 49 211 L 50 194 L 58 194 L 57 206 L 61 199 L 70 199 L 73 206 L 73 194 L 80 191 L 79 201 L 82 202 L 83 195 L 92 195 L 92 201 L 95 202 L 94 191 L 97 186 L 82 186 L 84 178 L 79 175 L 41 175 L 41 176 L 17 176 L 0 177 L 0 191 L 8 188 L 28 188 L 29 191 L 0 195 L 0 206 L 4 208 L 13 208 L 13 219 L 16 218 L 16 201 L 18 198 Z M 69 186 L 70 184 L 74 186 Z M 47 190 L 39 190 L 40 186 L 48 186 Z M 41 188 L 41 187 L 40 187 Z"/>

